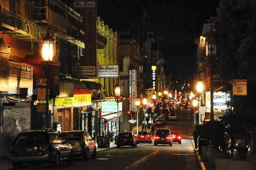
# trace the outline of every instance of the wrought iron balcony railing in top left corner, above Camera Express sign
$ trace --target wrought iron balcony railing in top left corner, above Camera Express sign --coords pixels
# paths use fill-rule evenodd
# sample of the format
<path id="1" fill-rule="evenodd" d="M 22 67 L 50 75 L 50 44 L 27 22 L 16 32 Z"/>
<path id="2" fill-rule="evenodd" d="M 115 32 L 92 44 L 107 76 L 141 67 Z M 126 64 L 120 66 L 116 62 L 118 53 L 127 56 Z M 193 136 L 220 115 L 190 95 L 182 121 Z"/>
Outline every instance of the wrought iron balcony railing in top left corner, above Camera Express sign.
<path id="1" fill-rule="evenodd" d="M 45 27 L 39 26 L 38 24 L 17 15 L 14 12 L 7 11 L 1 8 L 0 22 L 14 28 L 14 30 L 21 30 L 26 32 L 28 35 L 42 38 L 46 35 L 47 30 Z"/>

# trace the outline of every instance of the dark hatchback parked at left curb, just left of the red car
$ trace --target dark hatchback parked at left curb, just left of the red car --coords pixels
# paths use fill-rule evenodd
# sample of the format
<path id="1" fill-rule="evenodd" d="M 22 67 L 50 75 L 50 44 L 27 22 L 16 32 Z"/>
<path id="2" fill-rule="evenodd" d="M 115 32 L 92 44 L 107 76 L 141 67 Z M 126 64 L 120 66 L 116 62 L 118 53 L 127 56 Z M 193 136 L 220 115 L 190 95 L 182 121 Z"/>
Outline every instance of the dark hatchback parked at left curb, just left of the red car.
<path id="1" fill-rule="evenodd" d="M 121 146 L 132 146 L 133 148 L 137 146 L 137 139 L 132 132 L 120 132 L 118 134 L 116 147 L 121 148 Z"/>

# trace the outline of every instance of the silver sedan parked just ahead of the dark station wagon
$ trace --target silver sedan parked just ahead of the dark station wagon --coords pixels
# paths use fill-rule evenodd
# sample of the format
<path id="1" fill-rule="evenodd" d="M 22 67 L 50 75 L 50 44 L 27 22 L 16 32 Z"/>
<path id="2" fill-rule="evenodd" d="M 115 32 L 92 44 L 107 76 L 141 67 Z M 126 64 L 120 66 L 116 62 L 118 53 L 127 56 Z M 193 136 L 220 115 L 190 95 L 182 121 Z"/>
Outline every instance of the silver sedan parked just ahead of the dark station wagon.
<path id="1" fill-rule="evenodd" d="M 74 156 L 83 156 L 85 159 L 92 155 L 96 157 L 96 146 L 94 137 L 86 132 L 86 130 L 62 132 L 61 135 L 71 144 L 74 150 Z"/>

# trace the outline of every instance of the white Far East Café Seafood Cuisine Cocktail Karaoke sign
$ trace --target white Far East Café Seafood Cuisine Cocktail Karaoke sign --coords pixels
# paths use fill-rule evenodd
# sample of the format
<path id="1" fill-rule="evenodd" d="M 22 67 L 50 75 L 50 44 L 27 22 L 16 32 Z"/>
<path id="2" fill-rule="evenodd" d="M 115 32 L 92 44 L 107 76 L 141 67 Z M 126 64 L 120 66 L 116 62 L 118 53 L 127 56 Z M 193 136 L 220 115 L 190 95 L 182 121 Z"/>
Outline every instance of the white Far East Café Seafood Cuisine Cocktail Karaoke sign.
<path id="1" fill-rule="evenodd" d="M 118 65 L 99 65 L 99 77 L 118 77 Z"/>

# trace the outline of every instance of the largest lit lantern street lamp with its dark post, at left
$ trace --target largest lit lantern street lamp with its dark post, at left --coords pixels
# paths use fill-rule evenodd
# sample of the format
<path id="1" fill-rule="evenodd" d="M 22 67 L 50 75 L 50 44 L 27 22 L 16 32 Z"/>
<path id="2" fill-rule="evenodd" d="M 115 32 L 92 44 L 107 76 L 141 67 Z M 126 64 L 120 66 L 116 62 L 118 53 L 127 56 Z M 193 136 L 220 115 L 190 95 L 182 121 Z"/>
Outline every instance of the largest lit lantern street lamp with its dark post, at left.
<path id="1" fill-rule="evenodd" d="M 39 45 L 42 45 L 42 60 L 41 64 L 44 64 L 43 70 L 45 72 L 46 78 L 46 108 L 45 108 L 45 128 L 51 128 L 51 115 L 49 114 L 49 88 L 50 88 L 50 72 L 52 70 L 51 66 L 53 64 L 53 44 L 56 40 L 54 40 L 49 32 L 45 35 L 45 37 L 39 40 Z"/>

